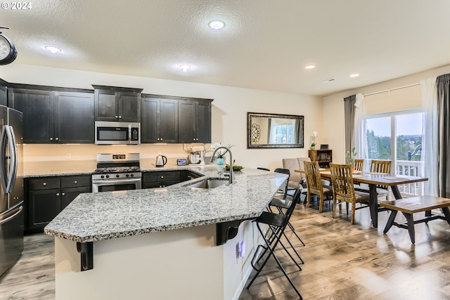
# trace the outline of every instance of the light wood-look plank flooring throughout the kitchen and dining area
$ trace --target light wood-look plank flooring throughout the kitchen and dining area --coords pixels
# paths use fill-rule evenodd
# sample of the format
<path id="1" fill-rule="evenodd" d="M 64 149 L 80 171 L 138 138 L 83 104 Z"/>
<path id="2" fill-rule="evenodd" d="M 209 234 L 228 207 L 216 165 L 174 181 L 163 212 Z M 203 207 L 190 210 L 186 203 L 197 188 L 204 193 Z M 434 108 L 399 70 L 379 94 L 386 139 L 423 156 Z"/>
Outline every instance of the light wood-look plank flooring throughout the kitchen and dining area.
<path id="1" fill-rule="evenodd" d="M 417 224 L 413 245 L 405 229 L 393 227 L 383 234 L 388 214 L 379 213 L 377 230 L 368 209 L 357 210 L 351 225 L 345 208 L 333 219 L 328 204 L 322 214 L 317 206 L 299 204 L 291 223 L 306 247 L 291 240 L 305 261 L 303 270 L 283 250 L 278 257 L 303 299 L 450 299 L 450 225 L 443 220 Z M 23 256 L 0 278 L 0 299 L 54 299 L 54 289 L 53 238 L 26 236 Z M 270 259 L 239 299 L 298 298 Z"/>

